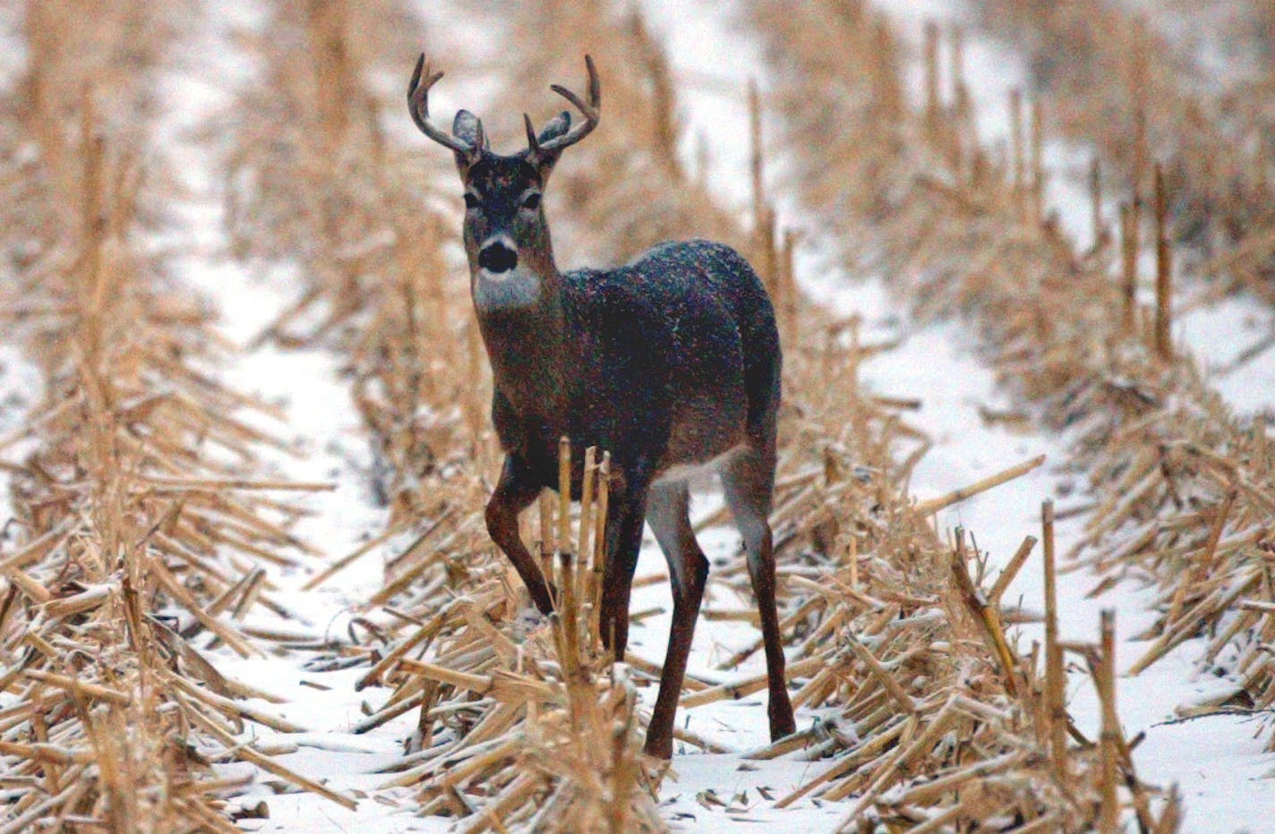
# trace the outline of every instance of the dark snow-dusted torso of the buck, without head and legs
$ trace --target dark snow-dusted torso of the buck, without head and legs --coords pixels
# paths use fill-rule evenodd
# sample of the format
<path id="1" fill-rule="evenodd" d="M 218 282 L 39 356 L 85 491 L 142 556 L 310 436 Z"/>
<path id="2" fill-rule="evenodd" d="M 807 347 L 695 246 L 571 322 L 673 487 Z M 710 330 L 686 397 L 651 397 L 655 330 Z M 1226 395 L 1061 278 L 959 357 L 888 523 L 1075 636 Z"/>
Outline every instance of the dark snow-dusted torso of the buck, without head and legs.
<path id="1" fill-rule="evenodd" d="M 745 443 L 750 400 L 760 413 L 778 399 L 769 302 L 724 246 L 664 245 L 620 269 L 566 273 L 555 306 L 558 315 L 477 310 L 496 432 L 539 486 L 557 486 L 562 435 L 609 450 L 617 464 L 645 459 L 660 478 Z M 746 356 L 773 361 L 746 369 Z M 747 370 L 760 375 L 755 391 Z"/>

